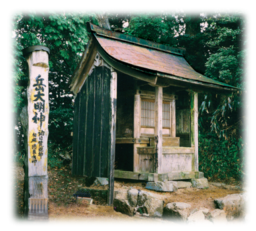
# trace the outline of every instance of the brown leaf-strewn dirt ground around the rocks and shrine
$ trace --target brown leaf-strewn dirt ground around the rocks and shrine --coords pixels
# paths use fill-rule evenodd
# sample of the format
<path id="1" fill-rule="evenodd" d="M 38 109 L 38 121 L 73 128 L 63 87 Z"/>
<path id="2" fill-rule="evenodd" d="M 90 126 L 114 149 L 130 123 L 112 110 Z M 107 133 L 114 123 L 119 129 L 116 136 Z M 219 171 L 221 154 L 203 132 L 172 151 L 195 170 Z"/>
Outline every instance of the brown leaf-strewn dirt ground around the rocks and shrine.
<path id="1" fill-rule="evenodd" d="M 7 165 L 7 177 L 11 180 L 9 187 L 15 184 L 17 195 L 19 199 L 23 198 L 23 182 L 24 182 L 24 170 L 22 163 L 9 163 Z M 160 218 L 146 218 L 142 216 L 127 216 L 116 212 L 113 207 L 107 206 L 104 200 L 101 198 L 95 198 L 93 204 L 87 206 L 75 202 L 73 194 L 77 189 L 81 187 L 87 187 L 85 185 L 84 177 L 73 177 L 70 169 L 50 169 L 48 170 L 48 215 L 49 220 L 43 224 L 46 227 L 180 227 L 179 224 L 169 222 Z M 68 180 L 68 181 L 67 181 Z M 7 183 L 8 183 L 7 182 Z M 210 183 L 210 182 L 209 182 Z M 240 185 L 241 187 L 251 187 L 251 181 L 229 181 L 223 182 L 229 185 Z M 146 183 L 141 181 L 128 181 L 128 180 L 116 180 L 115 190 L 126 190 L 132 188 L 151 191 L 145 189 Z M 151 193 L 159 194 L 165 201 L 165 204 L 169 202 L 185 202 L 191 205 L 191 209 L 194 208 L 208 208 L 214 210 L 214 199 L 224 197 L 228 194 L 237 194 L 244 191 L 234 189 L 224 189 L 222 187 L 216 187 L 209 184 L 208 189 L 195 189 L 186 188 L 178 189 L 175 192 L 160 193 L 151 191 Z M 107 189 L 107 187 L 91 186 L 88 188 L 94 189 Z M 11 200 L 12 201 L 12 200 Z M 12 204 L 8 200 L 7 195 L 7 224 L 9 226 L 19 226 L 13 224 L 11 217 L 13 212 L 22 214 L 23 202 L 19 202 L 19 210 L 12 209 Z M 9 206 L 9 207 L 8 207 Z M 17 202 L 16 206 L 17 208 Z M 9 208 L 9 210 L 8 210 Z M 8 220 L 9 215 L 9 220 Z M 15 216 L 17 217 L 17 216 Z M 21 223 L 19 223 L 21 224 Z M 243 218 L 232 220 L 228 222 L 228 227 L 243 227 Z"/>

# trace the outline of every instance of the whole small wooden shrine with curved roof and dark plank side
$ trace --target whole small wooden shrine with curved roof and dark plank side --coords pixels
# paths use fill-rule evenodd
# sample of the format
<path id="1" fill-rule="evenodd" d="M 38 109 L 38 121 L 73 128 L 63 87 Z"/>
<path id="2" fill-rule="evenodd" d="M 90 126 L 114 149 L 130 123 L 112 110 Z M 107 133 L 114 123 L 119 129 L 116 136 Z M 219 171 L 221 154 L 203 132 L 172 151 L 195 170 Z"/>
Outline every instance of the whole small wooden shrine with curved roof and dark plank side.
<path id="1" fill-rule="evenodd" d="M 234 88 L 196 72 L 185 50 L 87 23 L 71 79 L 73 174 L 163 181 L 198 171 L 198 92 Z"/>

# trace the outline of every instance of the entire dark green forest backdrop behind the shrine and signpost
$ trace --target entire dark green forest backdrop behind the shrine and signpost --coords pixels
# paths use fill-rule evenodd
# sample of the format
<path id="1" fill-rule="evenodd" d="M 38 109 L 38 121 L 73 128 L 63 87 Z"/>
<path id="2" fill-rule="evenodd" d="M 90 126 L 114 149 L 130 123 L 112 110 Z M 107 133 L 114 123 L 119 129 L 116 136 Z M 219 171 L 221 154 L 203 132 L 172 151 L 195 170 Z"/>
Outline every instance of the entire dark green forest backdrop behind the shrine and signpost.
<path id="1" fill-rule="evenodd" d="M 50 48 L 48 165 L 72 159 L 73 94 L 68 82 L 89 35 L 85 23 L 185 48 L 201 74 L 239 88 L 199 94 L 200 171 L 210 178 L 252 177 L 252 12 L 246 8 L 7 8 L 7 163 L 22 161 L 19 113 L 28 84 L 22 49 Z M 126 27 L 124 27 L 126 26 Z"/>

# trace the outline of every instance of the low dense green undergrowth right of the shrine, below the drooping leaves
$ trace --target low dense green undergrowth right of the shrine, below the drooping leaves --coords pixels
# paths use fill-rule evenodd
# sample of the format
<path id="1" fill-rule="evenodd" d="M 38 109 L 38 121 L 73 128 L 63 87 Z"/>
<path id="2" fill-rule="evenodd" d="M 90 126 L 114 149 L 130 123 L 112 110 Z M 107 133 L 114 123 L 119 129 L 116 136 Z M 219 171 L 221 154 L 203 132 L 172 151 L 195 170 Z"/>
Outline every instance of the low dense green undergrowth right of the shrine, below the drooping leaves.
<path id="1" fill-rule="evenodd" d="M 251 141 L 200 135 L 199 169 L 208 179 L 252 179 Z"/>

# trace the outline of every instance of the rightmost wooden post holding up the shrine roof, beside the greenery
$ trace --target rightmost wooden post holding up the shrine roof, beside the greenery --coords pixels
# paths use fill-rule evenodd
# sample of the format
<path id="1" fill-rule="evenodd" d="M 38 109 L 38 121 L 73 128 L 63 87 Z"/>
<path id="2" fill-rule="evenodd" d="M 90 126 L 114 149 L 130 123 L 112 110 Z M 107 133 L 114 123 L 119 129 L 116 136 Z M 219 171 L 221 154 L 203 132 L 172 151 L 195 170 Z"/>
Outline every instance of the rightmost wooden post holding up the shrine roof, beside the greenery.
<path id="1" fill-rule="evenodd" d="M 198 93 L 190 93 L 191 126 L 190 143 L 195 148 L 194 171 L 198 171 Z"/>

